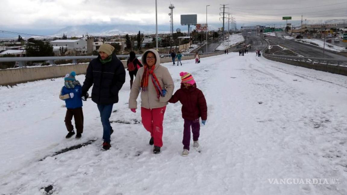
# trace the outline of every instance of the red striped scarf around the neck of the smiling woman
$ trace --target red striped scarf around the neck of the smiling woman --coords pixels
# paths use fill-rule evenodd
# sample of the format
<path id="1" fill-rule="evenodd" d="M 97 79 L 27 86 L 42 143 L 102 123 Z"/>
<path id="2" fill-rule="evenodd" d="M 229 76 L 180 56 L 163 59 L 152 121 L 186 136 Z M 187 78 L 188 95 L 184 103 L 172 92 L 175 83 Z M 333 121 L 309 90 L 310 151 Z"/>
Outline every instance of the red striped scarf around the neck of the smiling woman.
<path id="1" fill-rule="evenodd" d="M 149 80 L 149 77 L 151 75 L 152 83 L 154 85 L 157 97 L 159 99 L 159 96 L 163 96 L 163 94 L 161 91 L 162 88 L 160 86 L 158 78 L 156 78 L 156 76 L 154 74 L 154 69 L 155 69 L 155 65 L 153 65 L 151 69 L 148 68 L 147 64 L 144 65 L 144 71 L 143 71 L 143 75 L 142 75 L 142 79 L 141 79 L 141 88 L 142 88 L 142 91 L 148 90 L 148 80 Z"/>

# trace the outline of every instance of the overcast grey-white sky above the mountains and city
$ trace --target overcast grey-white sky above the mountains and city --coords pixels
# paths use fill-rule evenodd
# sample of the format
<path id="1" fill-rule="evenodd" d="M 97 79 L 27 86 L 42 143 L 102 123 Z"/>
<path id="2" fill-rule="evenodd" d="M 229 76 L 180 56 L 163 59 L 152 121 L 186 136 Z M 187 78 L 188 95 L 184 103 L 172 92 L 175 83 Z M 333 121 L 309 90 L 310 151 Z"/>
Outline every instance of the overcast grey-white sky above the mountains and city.
<path id="1" fill-rule="evenodd" d="M 181 14 L 197 14 L 197 23 L 220 23 L 220 4 L 237 24 L 283 23 L 282 16 L 307 23 L 347 19 L 346 0 L 158 0 L 158 23 L 169 24 L 170 2 L 174 23 Z M 155 0 L 1 0 L 0 30 L 6 28 L 63 28 L 83 24 L 155 24 Z M 324 17 L 322 17 L 324 16 Z M 343 21 L 342 21 L 343 22 Z M 288 21 L 289 23 L 289 21 Z M 347 23 L 347 20 L 346 20 Z"/>

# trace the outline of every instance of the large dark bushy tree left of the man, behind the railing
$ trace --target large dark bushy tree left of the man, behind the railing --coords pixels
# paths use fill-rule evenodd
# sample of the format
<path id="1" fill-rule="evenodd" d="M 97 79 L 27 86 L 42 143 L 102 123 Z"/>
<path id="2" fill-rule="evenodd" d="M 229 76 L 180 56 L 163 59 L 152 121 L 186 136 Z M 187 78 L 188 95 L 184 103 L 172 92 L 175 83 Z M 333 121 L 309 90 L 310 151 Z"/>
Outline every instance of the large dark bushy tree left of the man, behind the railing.
<path id="1" fill-rule="evenodd" d="M 53 46 L 49 42 L 35 40 L 34 38 L 28 39 L 28 42 L 34 44 L 27 44 L 25 47 L 27 57 L 54 56 Z"/>

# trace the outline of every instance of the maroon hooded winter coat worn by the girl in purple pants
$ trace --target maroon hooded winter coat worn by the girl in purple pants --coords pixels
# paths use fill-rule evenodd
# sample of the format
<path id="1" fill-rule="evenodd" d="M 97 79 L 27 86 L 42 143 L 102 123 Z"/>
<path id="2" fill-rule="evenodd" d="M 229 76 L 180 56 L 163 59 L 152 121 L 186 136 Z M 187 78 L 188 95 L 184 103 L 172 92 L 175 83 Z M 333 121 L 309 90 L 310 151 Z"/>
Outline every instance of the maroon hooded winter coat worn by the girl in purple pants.
<path id="1" fill-rule="evenodd" d="M 181 84 L 181 88 L 172 95 L 170 103 L 181 102 L 182 118 L 186 120 L 196 120 L 201 117 L 201 120 L 207 120 L 207 105 L 205 96 L 201 90 L 192 85 L 185 88 Z"/>

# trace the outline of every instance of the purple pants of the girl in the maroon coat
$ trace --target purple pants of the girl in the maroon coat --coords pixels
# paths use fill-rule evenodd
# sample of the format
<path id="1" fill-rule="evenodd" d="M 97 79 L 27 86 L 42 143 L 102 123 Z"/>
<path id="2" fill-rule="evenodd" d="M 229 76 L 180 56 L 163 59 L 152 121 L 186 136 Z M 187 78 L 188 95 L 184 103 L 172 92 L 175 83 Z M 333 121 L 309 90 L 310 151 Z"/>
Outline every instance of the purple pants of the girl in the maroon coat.
<path id="1" fill-rule="evenodd" d="M 184 130 L 183 130 L 183 149 L 189 150 L 189 144 L 191 142 L 191 126 L 193 133 L 193 141 L 198 141 L 200 135 L 200 121 L 186 120 L 184 119 Z"/>

